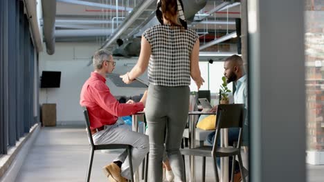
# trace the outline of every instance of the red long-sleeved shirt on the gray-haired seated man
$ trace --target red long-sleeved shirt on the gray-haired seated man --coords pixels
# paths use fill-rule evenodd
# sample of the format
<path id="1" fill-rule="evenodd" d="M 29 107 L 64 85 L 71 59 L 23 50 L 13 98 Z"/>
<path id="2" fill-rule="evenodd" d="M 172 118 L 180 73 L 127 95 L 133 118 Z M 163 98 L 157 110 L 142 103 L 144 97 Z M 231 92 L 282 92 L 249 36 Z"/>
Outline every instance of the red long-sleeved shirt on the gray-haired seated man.
<path id="1" fill-rule="evenodd" d="M 91 72 L 91 77 L 82 87 L 80 105 L 87 106 L 91 130 L 113 125 L 118 117 L 144 109 L 143 103 L 119 103 L 106 85 L 106 79 L 96 72 Z"/>

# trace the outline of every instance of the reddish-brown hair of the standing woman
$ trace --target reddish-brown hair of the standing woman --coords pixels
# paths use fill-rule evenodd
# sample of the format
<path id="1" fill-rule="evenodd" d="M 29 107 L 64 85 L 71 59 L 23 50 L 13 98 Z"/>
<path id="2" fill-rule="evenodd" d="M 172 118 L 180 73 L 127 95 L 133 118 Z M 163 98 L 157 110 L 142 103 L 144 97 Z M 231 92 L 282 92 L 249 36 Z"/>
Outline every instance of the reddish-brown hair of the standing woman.
<path id="1" fill-rule="evenodd" d="M 171 26 L 181 26 L 178 21 L 174 22 L 173 17 L 178 16 L 178 4 L 177 0 L 161 0 L 161 11 L 163 17 L 170 21 Z"/>

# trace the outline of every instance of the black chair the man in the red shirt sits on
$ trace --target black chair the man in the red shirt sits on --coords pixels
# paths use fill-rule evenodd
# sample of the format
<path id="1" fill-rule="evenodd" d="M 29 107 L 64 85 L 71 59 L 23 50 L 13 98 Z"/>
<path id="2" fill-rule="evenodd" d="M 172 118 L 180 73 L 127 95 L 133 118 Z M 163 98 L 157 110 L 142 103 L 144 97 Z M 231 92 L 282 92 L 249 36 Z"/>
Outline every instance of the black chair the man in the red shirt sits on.
<path id="1" fill-rule="evenodd" d="M 90 161 L 89 161 L 89 168 L 87 171 L 87 182 L 90 181 L 90 175 L 91 175 L 91 168 L 92 168 L 92 161 L 93 161 L 93 154 L 95 150 L 111 150 L 111 149 L 126 149 L 128 152 L 128 159 L 129 159 L 129 168 L 131 172 L 132 179 L 130 181 L 134 182 L 134 172 L 133 172 L 133 164 L 132 164 L 132 145 L 127 145 L 127 144 L 102 144 L 102 145 L 95 145 L 93 143 L 92 139 L 92 134 L 90 130 L 90 120 L 89 120 L 89 114 L 87 107 L 82 107 L 84 118 L 86 121 L 86 126 L 87 126 L 87 134 L 91 146 L 91 152 L 90 152 Z"/>

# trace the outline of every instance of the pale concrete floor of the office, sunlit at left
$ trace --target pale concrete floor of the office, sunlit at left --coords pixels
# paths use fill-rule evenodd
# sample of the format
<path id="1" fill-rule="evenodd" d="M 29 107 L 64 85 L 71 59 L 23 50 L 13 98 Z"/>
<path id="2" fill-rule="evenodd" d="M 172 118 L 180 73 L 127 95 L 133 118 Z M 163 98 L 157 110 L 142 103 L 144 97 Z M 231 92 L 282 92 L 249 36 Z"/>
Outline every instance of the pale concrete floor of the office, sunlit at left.
<path id="1" fill-rule="evenodd" d="M 116 156 L 116 152 L 95 152 L 91 181 L 107 181 L 101 168 Z M 201 158 L 196 157 L 196 161 L 196 181 L 201 181 Z M 85 181 L 88 162 L 89 142 L 84 127 L 42 128 L 16 181 Z M 206 181 L 215 181 L 211 160 L 206 160 L 206 169 Z M 186 173 L 188 181 L 188 157 Z M 309 182 L 323 182 L 324 165 L 307 165 L 307 176 Z"/>

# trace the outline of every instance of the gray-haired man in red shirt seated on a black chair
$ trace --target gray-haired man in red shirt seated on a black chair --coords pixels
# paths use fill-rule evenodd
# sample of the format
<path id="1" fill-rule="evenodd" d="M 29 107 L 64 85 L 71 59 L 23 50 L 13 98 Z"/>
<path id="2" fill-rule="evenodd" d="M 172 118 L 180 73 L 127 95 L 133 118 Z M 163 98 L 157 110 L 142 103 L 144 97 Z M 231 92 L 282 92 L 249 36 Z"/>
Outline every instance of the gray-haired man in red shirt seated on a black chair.
<path id="1" fill-rule="evenodd" d="M 80 94 L 80 105 L 87 106 L 90 129 L 95 144 L 123 143 L 132 145 L 132 162 L 136 170 L 149 152 L 148 136 L 132 132 L 127 125 L 117 122 L 118 117 L 128 116 L 144 109 L 140 101 L 119 103 L 106 85 L 105 74 L 111 73 L 116 62 L 107 50 L 98 50 L 93 55 L 94 72 L 84 83 Z M 110 181 L 130 179 L 127 151 L 102 170 Z M 125 162 L 124 162 L 125 161 Z"/>

